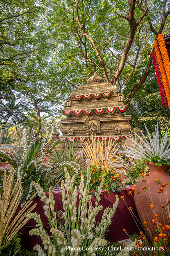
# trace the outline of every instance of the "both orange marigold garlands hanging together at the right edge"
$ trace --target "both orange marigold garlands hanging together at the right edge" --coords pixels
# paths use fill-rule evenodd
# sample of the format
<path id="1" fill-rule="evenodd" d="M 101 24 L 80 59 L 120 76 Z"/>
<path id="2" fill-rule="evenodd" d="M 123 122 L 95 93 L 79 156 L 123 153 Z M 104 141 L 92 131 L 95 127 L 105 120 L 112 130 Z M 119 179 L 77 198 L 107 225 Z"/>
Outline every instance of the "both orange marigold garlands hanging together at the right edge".
<path id="1" fill-rule="evenodd" d="M 153 46 L 155 48 L 156 59 L 159 65 L 159 70 L 162 77 L 164 91 L 166 93 L 167 103 L 170 108 L 170 62 L 169 62 L 169 55 L 168 55 L 162 34 L 158 35 L 158 41 L 155 41 Z M 157 70 L 158 70 L 158 66 L 157 66 Z M 158 79 L 158 83 L 159 83 L 159 80 L 160 79 Z"/>

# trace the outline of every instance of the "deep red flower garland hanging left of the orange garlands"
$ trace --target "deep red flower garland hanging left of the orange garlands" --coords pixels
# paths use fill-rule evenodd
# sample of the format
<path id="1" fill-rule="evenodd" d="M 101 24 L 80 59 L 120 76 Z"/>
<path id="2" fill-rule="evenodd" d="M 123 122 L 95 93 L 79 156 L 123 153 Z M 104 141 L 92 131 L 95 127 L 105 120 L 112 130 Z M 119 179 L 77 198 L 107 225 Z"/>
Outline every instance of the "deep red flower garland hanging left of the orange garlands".
<path id="1" fill-rule="evenodd" d="M 152 57 L 153 57 L 153 63 L 154 63 L 154 66 L 155 66 L 156 77 L 157 77 L 157 80 L 158 80 L 162 105 L 165 106 L 166 108 L 168 108 L 167 99 L 166 99 L 166 95 L 165 95 L 165 90 L 164 90 L 163 82 L 162 82 L 162 76 L 161 76 L 161 73 L 160 73 L 159 64 L 158 64 L 158 60 L 156 58 L 155 51 L 153 51 Z"/>

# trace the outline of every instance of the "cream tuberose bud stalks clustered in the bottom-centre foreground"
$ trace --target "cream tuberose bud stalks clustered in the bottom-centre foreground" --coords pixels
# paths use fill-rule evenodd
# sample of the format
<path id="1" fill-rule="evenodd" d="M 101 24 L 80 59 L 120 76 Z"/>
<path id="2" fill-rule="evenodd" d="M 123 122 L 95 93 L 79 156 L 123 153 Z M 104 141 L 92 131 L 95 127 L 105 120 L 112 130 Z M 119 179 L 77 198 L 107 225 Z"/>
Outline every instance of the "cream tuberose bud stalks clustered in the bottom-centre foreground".
<path id="1" fill-rule="evenodd" d="M 40 245 L 34 247 L 41 256 L 66 256 L 66 255 L 81 255 L 90 256 L 95 255 L 94 251 L 75 251 L 74 253 L 66 250 L 66 246 L 80 247 L 86 245 L 87 247 L 105 246 L 105 231 L 111 224 L 113 214 L 116 211 L 119 203 L 119 198 L 116 195 L 116 201 L 113 208 L 105 208 L 101 218 L 101 222 L 95 225 L 95 218 L 102 206 L 99 205 L 100 194 L 102 192 L 103 181 L 94 193 L 96 197 L 95 207 L 92 206 L 92 195 L 89 194 L 90 190 L 90 168 L 87 169 L 87 180 L 84 183 L 84 177 L 81 176 L 79 185 L 79 203 L 77 202 L 77 187 L 74 188 L 75 176 L 70 178 L 69 172 L 65 168 L 65 182 L 61 183 L 62 187 L 62 203 L 64 212 L 62 220 L 64 226 L 58 225 L 57 214 L 54 210 L 55 201 L 52 193 L 52 187 L 49 190 L 49 197 L 47 198 L 45 192 L 39 184 L 32 182 L 36 188 L 40 200 L 43 201 L 44 214 L 48 219 L 50 225 L 51 235 L 48 235 L 43 227 L 40 215 L 37 213 L 28 214 L 29 218 L 33 218 L 37 222 L 37 228 L 30 231 L 30 235 L 38 235 L 41 237 L 44 249 Z M 66 191 L 65 191 L 66 189 Z M 66 193 L 65 193 L 66 192 Z"/>

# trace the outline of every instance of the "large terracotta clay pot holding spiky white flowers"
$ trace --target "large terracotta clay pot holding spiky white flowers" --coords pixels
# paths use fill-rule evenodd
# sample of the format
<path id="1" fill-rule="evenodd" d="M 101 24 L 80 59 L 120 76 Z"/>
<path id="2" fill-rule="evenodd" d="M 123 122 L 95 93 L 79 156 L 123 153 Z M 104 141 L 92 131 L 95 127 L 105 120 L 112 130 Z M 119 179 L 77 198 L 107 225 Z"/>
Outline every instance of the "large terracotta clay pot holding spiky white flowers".
<path id="1" fill-rule="evenodd" d="M 163 227 L 165 227 L 166 224 L 170 225 L 168 220 L 170 206 L 167 202 L 167 199 L 170 200 L 170 176 L 167 173 L 170 166 L 163 165 L 161 167 L 152 162 L 147 162 L 145 164 L 149 167 L 150 173 L 148 177 L 145 176 L 138 181 L 135 187 L 134 200 L 142 224 L 144 221 L 147 221 L 147 227 L 149 227 L 151 233 L 147 231 L 146 226 L 144 226 L 145 231 L 150 237 L 154 237 L 156 236 L 156 231 L 154 229 L 155 225 L 151 224 L 151 220 L 155 219 L 154 214 L 159 215 L 159 223 L 161 223 Z M 160 183 L 156 182 L 156 179 L 159 179 Z M 143 182 L 142 180 L 146 180 L 146 182 Z M 164 182 L 168 183 L 168 186 L 166 188 L 164 187 L 163 193 L 159 195 L 158 191 Z M 148 189 L 145 189 L 144 191 L 142 187 L 145 186 L 148 186 Z M 138 192 L 140 192 L 140 196 L 137 194 Z M 153 202 L 153 210 L 151 204 L 148 203 L 149 200 Z M 162 210 L 162 207 L 160 206 L 161 204 L 163 204 L 164 210 Z"/>

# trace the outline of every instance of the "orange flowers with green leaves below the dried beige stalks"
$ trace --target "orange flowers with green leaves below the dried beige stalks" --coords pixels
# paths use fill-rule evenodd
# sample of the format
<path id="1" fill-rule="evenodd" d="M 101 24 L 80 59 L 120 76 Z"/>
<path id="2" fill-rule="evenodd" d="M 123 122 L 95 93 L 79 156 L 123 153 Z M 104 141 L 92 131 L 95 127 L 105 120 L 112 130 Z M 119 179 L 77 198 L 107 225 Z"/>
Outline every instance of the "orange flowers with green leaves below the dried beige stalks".
<path id="1" fill-rule="evenodd" d="M 90 172 L 91 172 L 91 180 L 90 180 L 90 190 L 96 190 L 98 186 L 101 185 L 101 182 L 104 177 L 104 183 L 103 183 L 103 190 L 112 192 L 115 192 L 117 190 L 118 192 L 121 191 L 122 187 L 125 187 L 119 173 L 115 172 L 115 168 L 113 168 L 111 171 L 107 171 L 105 167 L 97 169 L 96 165 L 91 166 L 90 165 Z M 84 175 L 86 179 L 86 174 Z"/>

